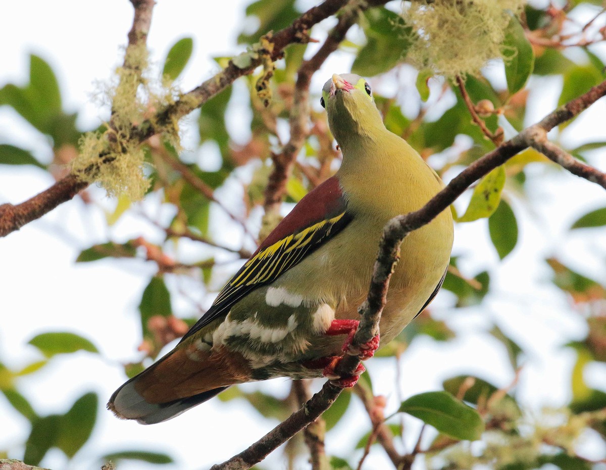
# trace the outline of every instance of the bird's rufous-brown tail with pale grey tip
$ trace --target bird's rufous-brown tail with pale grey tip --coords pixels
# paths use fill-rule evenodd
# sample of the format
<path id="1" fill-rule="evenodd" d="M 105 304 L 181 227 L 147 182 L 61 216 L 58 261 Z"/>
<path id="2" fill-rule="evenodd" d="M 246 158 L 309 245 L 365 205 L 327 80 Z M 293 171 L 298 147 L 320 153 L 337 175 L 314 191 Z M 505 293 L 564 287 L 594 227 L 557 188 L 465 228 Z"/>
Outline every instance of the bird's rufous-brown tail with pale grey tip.
<path id="1" fill-rule="evenodd" d="M 107 408 L 119 418 L 150 425 L 169 420 L 214 397 L 228 386 L 251 380 L 241 355 L 177 346 L 116 390 Z"/>

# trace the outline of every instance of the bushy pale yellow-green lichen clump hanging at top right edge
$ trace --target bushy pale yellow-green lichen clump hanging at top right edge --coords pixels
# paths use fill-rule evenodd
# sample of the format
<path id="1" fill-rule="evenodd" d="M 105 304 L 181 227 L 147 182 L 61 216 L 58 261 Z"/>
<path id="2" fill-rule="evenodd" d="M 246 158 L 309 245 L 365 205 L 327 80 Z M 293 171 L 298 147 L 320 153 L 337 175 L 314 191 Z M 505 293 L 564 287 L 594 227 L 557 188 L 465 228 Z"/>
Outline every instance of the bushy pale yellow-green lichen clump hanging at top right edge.
<path id="1" fill-rule="evenodd" d="M 408 58 L 419 67 L 454 78 L 476 75 L 490 59 L 503 56 L 511 13 L 525 0 L 435 0 L 410 2 L 402 15 L 414 36 Z"/>

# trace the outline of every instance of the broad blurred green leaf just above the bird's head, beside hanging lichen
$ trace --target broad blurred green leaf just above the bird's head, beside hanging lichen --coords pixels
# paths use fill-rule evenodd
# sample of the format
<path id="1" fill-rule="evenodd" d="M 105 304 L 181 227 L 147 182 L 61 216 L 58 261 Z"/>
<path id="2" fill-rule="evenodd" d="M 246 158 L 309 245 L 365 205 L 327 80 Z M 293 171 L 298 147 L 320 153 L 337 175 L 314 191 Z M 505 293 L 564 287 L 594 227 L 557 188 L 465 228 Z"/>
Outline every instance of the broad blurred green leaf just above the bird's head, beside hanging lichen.
<path id="1" fill-rule="evenodd" d="M 410 26 L 404 19 L 385 7 L 370 8 L 364 12 L 366 45 L 358 52 L 351 72 L 362 76 L 375 76 L 387 72 L 402 61 L 410 47 Z M 364 23 L 362 23 L 364 25 Z"/>

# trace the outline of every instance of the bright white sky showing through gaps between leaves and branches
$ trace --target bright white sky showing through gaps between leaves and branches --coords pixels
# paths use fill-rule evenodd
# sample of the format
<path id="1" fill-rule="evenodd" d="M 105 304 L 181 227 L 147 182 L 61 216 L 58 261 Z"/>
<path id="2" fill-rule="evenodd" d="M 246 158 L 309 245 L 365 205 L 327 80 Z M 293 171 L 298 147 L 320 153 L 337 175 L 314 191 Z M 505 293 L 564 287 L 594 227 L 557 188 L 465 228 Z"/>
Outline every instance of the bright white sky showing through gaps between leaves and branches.
<path id="1" fill-rule="evenodd" d="M 55 2 L 4 2 L 0 28 L 0 87 L 7 82 L 27 82 L 28 53 L 48 61 L 58 73 L 64 108 L 81 112 L 79 124 L 89 128 L 98 123 L 99 110 L 91 96 L 95 82 L 105 81 L 121 61 L 120 48 L 132 20 L 132 7 L 127 0 L 108 0 L 102 5 L 78 0 Z M 239 52 L 235 38 L 243 22 L 241 0 L 193 2 L 159 0 L 154 12 L 148 44 L 153 59 L 161 61 L 170 45 L 184 36 L 193 36 L 193 58 L 182 79 L 188 90 L 216 72 L 215 55 Z M 218 21 L 217 19 L 220 19 Z M 318 32 L 321 37 L 322 33 Z M 338 55 L 315 76 L 318 89 L 332 72 L 348 67 L 350 59 Z M 553 87 L 549 99 L 535 104 L 533 121 L 554 107 L 558 96 L 553 80 L 537 79 L 531 87 Z M 531 95 L 538 96 L 538 93 Z M 534 101 L 532 101 L 534 103 Z M 603 139 L 606 106 L 602 102 L 586 113 L 570 129 L 579 141 Z M 44 138 L 5 107 L 0 109 L 0 143 L 12 143 L 31 149 L 42 160 Z M 603 157 L 603 155 L 602 155 Z M 598 164 L 598 158 L 593 160 Z M 601 158 L 602 170 L 606 170 Z M 570 398 L 566 377 L 574 363 L 574 354 L 559 349 L 571 338 L 582 338 L 584 322 L 567 309 L 567 300 L 546 280 L 549 270 L 541 259 L 558 255 L 568 263 L 587 266 L 588 274 L 606 278 L 604 232 L 596 238 L 575 234 L 567 237 L 571 221 L 587 210 L 605 205 L 599 187 L 560 172 L 538 167 L 531 171 L 533 186 L 531 209 L 514 200 L 521 239 L 510 257 L 493 272 L 493 293 L 481 309 L 458 311 L 447 307 L 452 298 L 442 293 L 434 304 L 439 317 L 448 318 L 451 327 L 462 335 L 451 343 L 437 344 L 418 340 L 401 364 L 400 388 L 404 397 L 417 392 L 441 388 L 441 381 L 462 373 L 475 373 L 504 386 L 512 374 L 505 355 L 494 347 L 488 335 L 478 329 L 495 320 L 504 331 L 527 347 L 527 366 L 518 386 L 521 400 L 538 409 L 560 406 Z M 543 176 L 549 176 L 549 178 Z M 52 180 L 44 172 L 28 168 L 0 167 L 0 203 L 18 203 L 45 189 Z M 93 189 L 101 194 L 101 190 Z M 112 200 L 103 200 L 111 208 Z M 234 206 L 235 210 L 238 210 Z M 121 363 L 138 358 L 139 320 L 137 306 L 150 276 L 155 272 L 150 263 L 133 261 L 99 261 L 75 264 L 78 253 L 93 243 L 106 241 L 103 213 L 99 208 L 84 208 L 76 198 L 18 233 L 0 240 L 0 360 L 13 368 L 23 366 L 39 356 L 27 341 L 39 332 L 72 331 L 90 338 L 102 351 L 101 359 L 79 354 L 53 359 L 52 366 L 19 382 L 19 389 L 30 399 L 40 414 L 65 412 L 67 403 L 84 392 L 94 390 L 101 400 L 109 397 L 124 381 Z M 127 240 L 141 235 L 157 237 L 136 220 L 121 221 L 112 230 L 113 240 Z M 496 254 L 489 245 L 485 221 L 458 227 L 453 253 L 465 256 L 463 269 L 473 275 L 486 266 L 494 268 Z M 171 287 L 176 286 L 171 283 Z M 192 293 L 194 297 L 195 293 Z M 173 300 L 176 296 L 173 295 Z M 387 360 L 372 360 L 368 368 L 376 392 L 390 397 L 390 409 L 397 407 L 393 383 L 393 365 Z M 593 386 L 606 387 L 604 368 L 592 369 L 587 377 Z M 320 382 L 318 382 L 318 386 Z M 285 393 L 288 383 L 273 380 L 262 388 Z M 256 389 L 259 385 L 248 386 Z M 357 400 L 357 410 L 339 431 L 329 436 L 328 452 L 347 456 L 351 440 L 356 441 L 368 430 L 368 420 Z M 412 422 L 412 421 L 411 421 Z M 0 451 L 10 450 L 10 457 L 22 457 L 18 443 L 28 433 L 27 422 L 0 398 Z M 9 423 L 7 426 L 6 424 Z M 73 468 L 95 468 L 90 459 L 119 450 L 147 449 L 167 452 L 176 457 L 178 468 L 206 468 L 241 451 L 261 437 L 275 422 L 259 417 L 245 403 L 221 403 L 212 400 L 175 420 L 154 426 L 116 420 L 104 408 L 99 409 L 98 426 L 92 440 L 79 452 Z M 416 426 L 413 423 L 411 426 Z M 416 438 L 408 435 L 407 443 Z M 591 436 L 588 457 L 599 457 L 600 448 Z M 385 462 L 381 449 L 371 452 L 365 468 L 379 468 Z M 266 468 L 282 468 L 279 456 L 270 457 Z M 42 462 L 54 470 L 64 468 L 65 458 L 53 451 Z M 418 463 L 419 464 L 419 463 Z M 144 468 L 125 463 L 122 469 Z M 168 468 L 168 466 L 165 466 Z M 174 468 L 177 468 L 176 466 Z M 305 465 L 301 465 L 305 468 Z M 421 468 L 417 466 L 417 468 Z"/>

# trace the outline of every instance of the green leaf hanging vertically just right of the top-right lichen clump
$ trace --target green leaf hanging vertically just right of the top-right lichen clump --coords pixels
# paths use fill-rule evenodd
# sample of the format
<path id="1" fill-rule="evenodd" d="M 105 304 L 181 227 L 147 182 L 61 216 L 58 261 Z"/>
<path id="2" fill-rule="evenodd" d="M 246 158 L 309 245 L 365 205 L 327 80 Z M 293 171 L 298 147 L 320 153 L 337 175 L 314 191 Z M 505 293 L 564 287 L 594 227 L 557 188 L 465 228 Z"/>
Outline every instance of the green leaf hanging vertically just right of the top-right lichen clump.
<path id="1" fill-rule="evenodd" d="M 526 84 L 534 67 L 534 53 L 518 18 L 512 17 L 503 43 L 507 89 L 513 95 Z"/>

